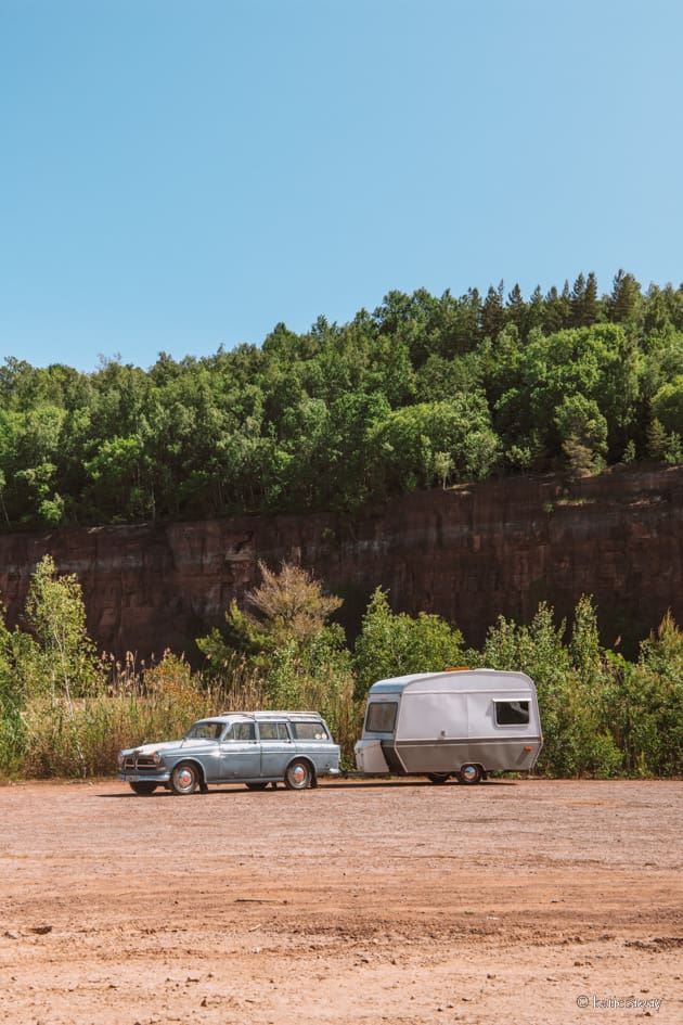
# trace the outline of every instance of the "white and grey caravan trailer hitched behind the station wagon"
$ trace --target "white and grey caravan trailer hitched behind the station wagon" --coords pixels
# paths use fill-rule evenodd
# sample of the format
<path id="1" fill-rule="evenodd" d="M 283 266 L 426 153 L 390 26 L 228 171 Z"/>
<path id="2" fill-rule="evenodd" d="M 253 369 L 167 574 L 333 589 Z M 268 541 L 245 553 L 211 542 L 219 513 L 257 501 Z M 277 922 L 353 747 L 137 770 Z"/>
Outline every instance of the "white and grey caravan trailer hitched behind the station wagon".
<path id="1" fill-rule="evenodd" d="M 524 672 L 418 672 L 370 688 L 356 767 L 478 783 L 490 771 L 532 769 L 542 743 L 536 688 Z"/>

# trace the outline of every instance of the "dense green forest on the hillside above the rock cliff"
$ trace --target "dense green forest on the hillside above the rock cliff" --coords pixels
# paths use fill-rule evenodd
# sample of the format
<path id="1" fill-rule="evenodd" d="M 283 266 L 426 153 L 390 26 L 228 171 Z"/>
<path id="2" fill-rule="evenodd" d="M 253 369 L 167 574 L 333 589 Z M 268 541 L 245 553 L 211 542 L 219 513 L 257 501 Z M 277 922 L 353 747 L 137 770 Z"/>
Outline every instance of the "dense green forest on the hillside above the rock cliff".
<path id="1" fill-rule="evenodd" d="M 683 285 L 389 293 L 143 370 L 0 367 L 0 525 L 331 510 L 492 474 L 683 461 Z"/>

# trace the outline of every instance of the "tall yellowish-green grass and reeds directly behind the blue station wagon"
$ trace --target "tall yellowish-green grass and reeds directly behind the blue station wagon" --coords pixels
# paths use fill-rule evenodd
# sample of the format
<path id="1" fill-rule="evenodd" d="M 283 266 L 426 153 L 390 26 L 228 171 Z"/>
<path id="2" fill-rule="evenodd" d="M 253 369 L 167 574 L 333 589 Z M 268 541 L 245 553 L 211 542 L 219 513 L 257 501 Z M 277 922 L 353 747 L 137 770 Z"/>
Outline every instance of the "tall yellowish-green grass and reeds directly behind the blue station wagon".
<path id="1" fill-rule="evenodd" d="M 287 686 L 273 687 L 239 656 L 210 679 L 167 652 L 153 667 L 103 663 L 98 691 L 67 705 L 59 695 L 34 697 L 21 719 L 21 742 L 2 742 L 2 763 L 9 777 L 109 776 L 119 751 L 145 741 L 182 736 L 195 719 L 227 712 L 268 708 L 309 708 L 322 713 L 344 757 L 351 759 L 358 736 L 359 709 L 353 680 L 302 675 Z"/>

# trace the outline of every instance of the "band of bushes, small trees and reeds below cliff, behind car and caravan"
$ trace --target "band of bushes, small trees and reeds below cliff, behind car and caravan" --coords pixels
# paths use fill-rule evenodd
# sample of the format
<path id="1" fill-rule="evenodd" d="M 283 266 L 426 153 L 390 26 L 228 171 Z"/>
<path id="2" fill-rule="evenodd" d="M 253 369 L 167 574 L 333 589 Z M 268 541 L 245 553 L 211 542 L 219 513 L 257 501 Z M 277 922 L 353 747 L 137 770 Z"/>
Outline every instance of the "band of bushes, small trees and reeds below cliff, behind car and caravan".
<path id="1" fill-rule="evenodd" d="M 600 644 L 596 610 L 582 598 L 556 624 L 541 604 L 532 622 L 501 617 L 481 651 L 438 616 L 394 613 L 372 597 L 351 651 L 330 622 L 340 604 L 297 566 L 261 566 L 262 582 L 224 629 L 197 643 L 193 670 L 167 652 L 155 666 L 95 657 L 80 588 L 46 556 L 26 603 L 27 630 L 0 615 L 0 769 L 3 777 L 107 774 L 121 747 L 172 739 L 227 709 L 309 707 L 323 713 L 347 764 L 370 684 L 386 676 L 488 666 L 534 680 L 550 776 L 665 777 L 683 771 L 683 632 L 667 616 L 631 663 Z"/>

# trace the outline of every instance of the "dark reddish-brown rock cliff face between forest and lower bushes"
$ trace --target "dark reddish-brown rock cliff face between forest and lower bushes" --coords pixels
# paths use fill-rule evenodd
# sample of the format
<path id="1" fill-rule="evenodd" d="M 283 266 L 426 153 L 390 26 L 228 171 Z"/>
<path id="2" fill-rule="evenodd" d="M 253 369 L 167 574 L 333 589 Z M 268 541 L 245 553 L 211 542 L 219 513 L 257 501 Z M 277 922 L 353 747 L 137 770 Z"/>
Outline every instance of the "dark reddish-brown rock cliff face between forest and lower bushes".
<path id="1" fill-rule="evenodd" d="M 46 553 L 78 576 L 90 632 L 117 655 L 192 656 L 194 638 L 258 582 L 258 560 L 283 559 L 345 598 L 350 632 L 378 585 L 396 611 L 437 613 L 476 645 L 499 615 L 528 622 L 545 600 L 570 616 L 587 593 L 603 643 L 620 635 L 633 654 L 668 608 L 683 624 L 683 467 L 570 485 L 506 478 L 412 495 L 352 521 L 302 513 L 5 535 L 0 592 L 11 626 Z"/>

